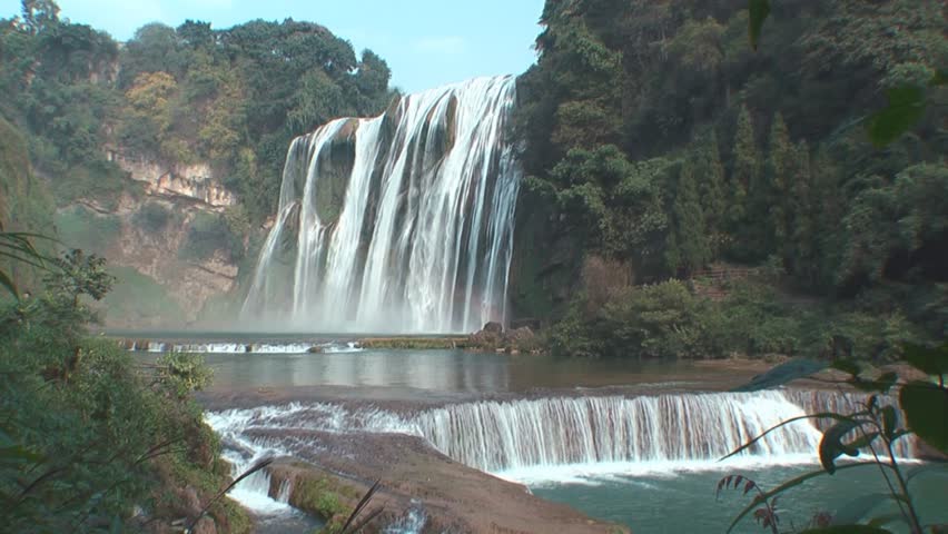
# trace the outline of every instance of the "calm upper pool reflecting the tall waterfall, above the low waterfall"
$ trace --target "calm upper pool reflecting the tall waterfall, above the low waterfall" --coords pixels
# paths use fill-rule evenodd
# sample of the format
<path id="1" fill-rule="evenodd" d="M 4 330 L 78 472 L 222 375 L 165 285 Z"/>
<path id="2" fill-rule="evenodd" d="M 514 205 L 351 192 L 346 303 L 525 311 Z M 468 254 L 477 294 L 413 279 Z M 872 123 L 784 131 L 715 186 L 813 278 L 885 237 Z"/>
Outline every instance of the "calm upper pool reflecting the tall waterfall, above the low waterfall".
<path id="1" fill-rule="evenodd" d="M 445 393 L 624 386 L 707 378 L 687 363 L 556 359 L 464 350 L 208 354 L 215 388 L 405 387 Z"/>

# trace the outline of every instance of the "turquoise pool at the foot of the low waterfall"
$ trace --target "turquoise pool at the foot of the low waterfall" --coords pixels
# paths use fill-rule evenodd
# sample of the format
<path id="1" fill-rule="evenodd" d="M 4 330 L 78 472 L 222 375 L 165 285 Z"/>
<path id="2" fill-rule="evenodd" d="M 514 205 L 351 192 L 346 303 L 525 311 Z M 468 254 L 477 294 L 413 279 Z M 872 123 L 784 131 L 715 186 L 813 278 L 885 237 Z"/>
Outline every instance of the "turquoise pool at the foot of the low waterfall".
<path id="1" fill-rule="evenodd" d="M 818 466 L 767 467 L 737 471 L 764 488 L 818 469 Z M 911 467 L 909 467 L 911 468 Z M 729 472 L 692 472 L 662 475 L 611 477 L 589 484 L 545 484 L 531 490 L 537 496 L 569 504 L 592 517 L 628 525 L 636 534 L 723 533 L 740 511 L 750 504 L 743 491 L 722 491 L 715 498 L 718 482 Z M 948 476 L 922 475 L 911 485 L 925 524 L 948 522 Z M 853 497 L 886 492 L 886 483 L 876 467 L 860 467 L 808 481 L 778 500 L 781 532 L 803 530 L 814 514 L 833 513 Z M 897 513 L 882 505 L 871 516 Z M 890 525 L 893 532 L 907 532 L 903 525 Z M 744 518 L 737 533 L 769 532 Z"/>

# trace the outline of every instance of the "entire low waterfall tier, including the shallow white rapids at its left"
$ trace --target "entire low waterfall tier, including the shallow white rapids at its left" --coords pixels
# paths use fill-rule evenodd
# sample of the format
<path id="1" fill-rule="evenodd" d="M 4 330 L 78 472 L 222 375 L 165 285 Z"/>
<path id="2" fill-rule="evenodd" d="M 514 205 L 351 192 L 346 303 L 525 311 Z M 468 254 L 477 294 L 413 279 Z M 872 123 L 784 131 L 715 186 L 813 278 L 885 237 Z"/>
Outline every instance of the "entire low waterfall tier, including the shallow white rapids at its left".
<path id="1" fill-rule="evenodd" d="M 863 398 L 796 390 L 552 397 L 454 404 L 412 415 L 374 406 L 350 409 L 294 404 L 231 411 L 219 419 L 229 424 L 211 426 L 218 432 L 277 428 L 412 434 L 461 463 L 497 473 L 574 464 L 714 462 L 778 423 L 806 413 L 848 413 Z M 816 461 L 821 437 L 819 425 L 797 422 L 771 433 L 742 456 L 763 464 L 801 457 Z M 300 443 L 296 436 L 292 446 L 318 444 Z M 912 448 L 902 441 L 897 453 L 911 457 Z"/>

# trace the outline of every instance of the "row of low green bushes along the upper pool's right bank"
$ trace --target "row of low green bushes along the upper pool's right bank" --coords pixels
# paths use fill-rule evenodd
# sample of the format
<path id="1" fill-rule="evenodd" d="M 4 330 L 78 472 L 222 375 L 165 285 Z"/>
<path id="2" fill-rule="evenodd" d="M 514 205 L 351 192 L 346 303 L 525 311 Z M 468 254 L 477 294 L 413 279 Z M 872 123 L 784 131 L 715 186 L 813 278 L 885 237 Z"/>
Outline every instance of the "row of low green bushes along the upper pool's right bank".
<path id="1" fill-rule="evenodd" d="M 585 297 L 553 329 L 554 354 L 618 358 L 807 356 L 890 362 L 925 334 L 898 309 L 867 313 L 794 303 L 766 284 L 741 280 L 722 300 L 682 281 L 626 289 L 599 308 Z M 592 310 L 591 310 L 592 309 Z"/>

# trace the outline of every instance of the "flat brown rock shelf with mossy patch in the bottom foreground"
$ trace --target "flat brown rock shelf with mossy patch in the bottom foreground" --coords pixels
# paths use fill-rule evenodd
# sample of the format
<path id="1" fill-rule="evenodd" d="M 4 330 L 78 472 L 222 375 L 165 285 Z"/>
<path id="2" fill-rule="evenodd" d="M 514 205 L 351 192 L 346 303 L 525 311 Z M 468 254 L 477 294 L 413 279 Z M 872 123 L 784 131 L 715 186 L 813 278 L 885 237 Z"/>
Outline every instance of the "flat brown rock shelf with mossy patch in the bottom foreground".
<path id="1" fill-rule="evenodd" d="M 276 495 L 289 484 L 292 505 L 330 524 L 344 522 L 374 481 L 379 481 L 366 511 L 382 508 L 382 513 L 364 532 L 382 532 L 412 511 L 426 517 L 424 533 L 629 532 L 535 497 L 521 484 L 460 464 L 418 437 L 298 432 L 305 434 L 297 436 L 300 439 L 319 439 L 326 446 L 306 454 L 305 462 L 271 465 L 270 492 Z"/>

